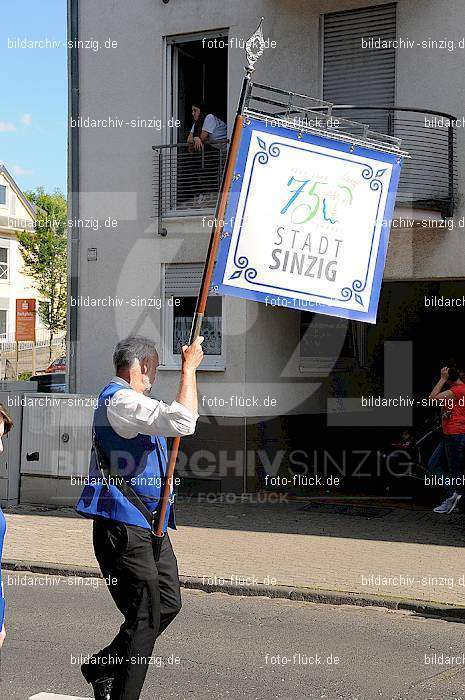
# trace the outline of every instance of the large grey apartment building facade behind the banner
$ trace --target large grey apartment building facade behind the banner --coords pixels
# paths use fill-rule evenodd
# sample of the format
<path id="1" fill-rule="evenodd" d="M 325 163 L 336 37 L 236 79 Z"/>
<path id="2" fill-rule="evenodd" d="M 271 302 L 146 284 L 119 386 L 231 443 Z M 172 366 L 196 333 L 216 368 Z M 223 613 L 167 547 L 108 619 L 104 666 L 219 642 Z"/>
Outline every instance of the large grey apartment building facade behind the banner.
<path id="1" fill-rule="evenodd" d="M 254 80 L 329 100 L 334 114 L 403 138 L 412 158 L 376 326 L 212 294 L 201 419 L 180 455 L 185 487 L 207 492 L 254 490 L 266 474 L 299 462 L 313 470 L 322 459 L 348 475 L 355 453 L 371 454 L 380 431 L 412 420 L 401 411 L 370 424 L 351 411 L 351 399 L 422 395 L 443 358 L 460 353 L 450 333 L 458 301 L 444 313 L 433 300 L 459 300 L 465 276 L 465 6 L 69 0 L 69 9 L 76 45 L 92 36 L 102 47 L 71 49 L 69 64 L 70 217 L 79 224 L 70 236 L 70 381 L 77 392 L 97 392 L 111 376 L 115 343 L 142 333 L 160 348 L 155 395 L 176 393 L 179 345 L 223 165 L 221 154 L 200 166 L 192 159 L 190 110 L 208 102 L 231 134 L 244 40 L 261 16 L 268 48 Z"/>

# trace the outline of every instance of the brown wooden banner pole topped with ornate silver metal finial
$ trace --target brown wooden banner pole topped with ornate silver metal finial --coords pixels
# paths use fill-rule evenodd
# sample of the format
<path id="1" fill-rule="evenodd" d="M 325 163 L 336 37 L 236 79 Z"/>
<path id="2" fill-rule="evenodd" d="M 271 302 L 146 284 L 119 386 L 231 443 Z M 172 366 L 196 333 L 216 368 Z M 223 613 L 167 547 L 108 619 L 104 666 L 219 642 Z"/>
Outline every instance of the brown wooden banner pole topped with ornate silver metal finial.
<path id="1" fill-rule="evenodd" d="M 244 102 L 245 102 L 245 99 L 249 93 L 250 77 L 251 77 L 252 71 L 254 70 L 254 64 L 257 61 L 257 59 L 262 55 L 263 50 L 264 50 L 265 42 L 264 42 L 263 33 L 262 33 L 262 22 L 263 22 L 263 17 L 260 21 L 260 24 L 258 25 L 257 30 L 254 32 L 254 34 L 252 34 L 250 39 L 248 39 L 246 42 L 246 48 L 245 48 L 246 57 L 247 57 L 246 74 L 245 74 L 244 80 L 242 82 L 242 89 L 241 89 L 241 94 L 239 97 L 239 103 L 237 106 L 237 113 L 236 113 L 236 118 L 234 120 L 234 128 L 233 128 L 233 133 L 232 133 L 232 137 L 231 137 L 231 145 L 229 147 L 228 158 L 226 161 L 226 166 L 224 169 L 223 178 L 222 178 L 222 182 L 221 182 L 220 196 L 218 198 L 217 205 L 216 205 L 216 212 L 215 212 L 215 219 L 214 219 L 215 225 L 213 227 L 212 235 L 210 237 L 207 258 L 205 260 L 205 266 L 203 269 L 202 283 L 200 285 L 200 291 L 199 291 L 199 295 L 197 297 L 195 314 L 194 314 L 194 318 L 192 321 L 192 327 L 191 327 L 191 332 L 190 332 L 190 336 L 189 336 L 189 345 L 192 345 L 192 343 L 196 340 L 196 338 L 199 337 L 201 327 L 202 327 L 203 317 L 205 314 L 205 307 L 207 305 L 208 292 L 210 291 L 210 287 L 211 287 L 213 268 L 215 266 L 216 255 L 218 252 L 218 245 L 220 242 L 221 232 L 223 230 L 224 217 L 225 217 L 225 212 L 226 212 L 226 205 L 228 202 L 229 189 L 230 189 L 231 181 L 233 178 L 234 164 L 236 162 L 237 151 L 238 151 L 239 143 L 240 143 L 240 139 L 241 139 L 242 122 L 243 122 L 242 111 L 243 111 L 243 107 L 244 107 Z M 161 540 L 161 538 L 163 538 L 163 525 L 165 522 L 166 511 L 168 508 L 168 503 L 169 503 L 169 498 L 170 498 L 170 493 L 171 493 L 171 484 L 173 482 L 174 469 L 176 466 L 176 460 L 178 457 L 180 442 L 181 442 L 180 437 L 174 438 L 173 444 L 171 447 L 171 452 L 170 452 L 170 459 L 169 459 L 168 467 L 166 470 L 166 475 L 165 475 L 166 480 L 165 480 L 165 484 L 164 484 L 164 488 L 163 488 L 163 495 L 161 498 L 161 507 L 160 507 L 160 512 L 158 515 L 157 527 L 156 527 L 156 530 L 154 533 L 154 535 L 156 537 L 159 537 L 160 540 Z"/>

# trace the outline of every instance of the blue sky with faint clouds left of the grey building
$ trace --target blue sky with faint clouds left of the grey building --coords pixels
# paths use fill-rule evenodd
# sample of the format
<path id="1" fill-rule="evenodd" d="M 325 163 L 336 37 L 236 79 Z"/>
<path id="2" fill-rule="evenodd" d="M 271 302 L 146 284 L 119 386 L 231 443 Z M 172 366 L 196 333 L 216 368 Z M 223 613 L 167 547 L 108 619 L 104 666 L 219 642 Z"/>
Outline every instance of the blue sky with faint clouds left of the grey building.
<path id="1" fill-rule="evenodd" d="M 59 46 L 14 48 L 25 39 Z M 2 3 L 0 163 L 22 190 L 66 192 L 66 39 L 66 0 Z"/>

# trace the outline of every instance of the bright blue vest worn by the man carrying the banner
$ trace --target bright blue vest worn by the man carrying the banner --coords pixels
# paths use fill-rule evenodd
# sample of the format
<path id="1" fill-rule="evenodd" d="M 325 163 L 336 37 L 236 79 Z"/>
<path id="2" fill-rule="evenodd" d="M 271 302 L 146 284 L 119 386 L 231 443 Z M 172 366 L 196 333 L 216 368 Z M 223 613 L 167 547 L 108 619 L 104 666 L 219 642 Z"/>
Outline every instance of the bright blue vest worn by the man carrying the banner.
<path id="1" fill-rule="evenodd" d="M 107 407 L 117 391 L 126 387 L 110 382 L 98 397 L 94 411 L 95 436 L 107 459 L 112 463 L 114 474 L 124 476 L 150 511 L 160 501 L 164 485 L 168 449 L 166 440 L 158 435 L 136 435 L 123 438 L 113 430 L 107 417 Z M 111 481 L 106 484 L 97 467 L 94 451 L 91 453 L 88 483 L 84 486 L 76 504 L 76 511 L 87 518 L 109 518 L 128 525 L 149 529 L 142 513 L 121 493 Z M 176 528 L 174 521 L 174 493 L 171 494 L 163 531 Z"/>

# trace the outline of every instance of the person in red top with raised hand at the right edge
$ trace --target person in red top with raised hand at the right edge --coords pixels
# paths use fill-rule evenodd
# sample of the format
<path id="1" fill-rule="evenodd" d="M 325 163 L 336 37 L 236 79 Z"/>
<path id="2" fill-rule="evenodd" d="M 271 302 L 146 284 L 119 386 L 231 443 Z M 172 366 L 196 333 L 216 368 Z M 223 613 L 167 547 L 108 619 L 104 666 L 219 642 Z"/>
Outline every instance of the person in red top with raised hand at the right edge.
<path id="1" fill-rule="evenodd" d="M 465 383 L 456 367 L 443 367 L 430 394 L 441 406 L 442 437 L 428 462 L 428 471 L 447 477 L 446 499 L 435 513 L 452 513 L 463 495 L 465 472 Z"/>

